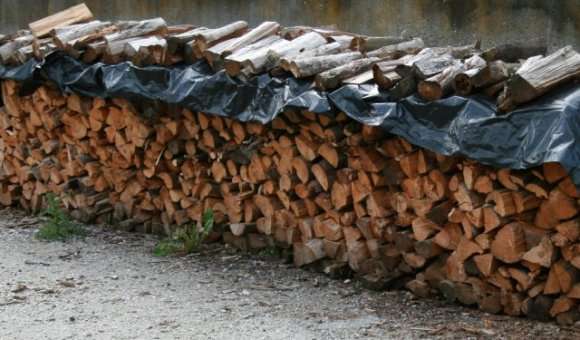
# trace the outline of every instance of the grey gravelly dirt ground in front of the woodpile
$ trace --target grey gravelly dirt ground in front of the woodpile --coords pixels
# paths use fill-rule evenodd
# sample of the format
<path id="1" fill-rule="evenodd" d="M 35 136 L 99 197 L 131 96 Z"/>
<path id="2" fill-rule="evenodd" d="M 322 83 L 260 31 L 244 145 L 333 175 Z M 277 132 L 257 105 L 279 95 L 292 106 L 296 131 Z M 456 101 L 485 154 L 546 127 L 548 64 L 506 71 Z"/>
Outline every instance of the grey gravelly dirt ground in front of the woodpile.
<path id="1" fill-rule="evenodd" d="M 216 246 L 151 255 L 155 238 L 90 228 L 33 238 L 0 211 L 0 339 L 578 338 L 580 329 L 488 315 L 406 292 L 371 292 Z"/>

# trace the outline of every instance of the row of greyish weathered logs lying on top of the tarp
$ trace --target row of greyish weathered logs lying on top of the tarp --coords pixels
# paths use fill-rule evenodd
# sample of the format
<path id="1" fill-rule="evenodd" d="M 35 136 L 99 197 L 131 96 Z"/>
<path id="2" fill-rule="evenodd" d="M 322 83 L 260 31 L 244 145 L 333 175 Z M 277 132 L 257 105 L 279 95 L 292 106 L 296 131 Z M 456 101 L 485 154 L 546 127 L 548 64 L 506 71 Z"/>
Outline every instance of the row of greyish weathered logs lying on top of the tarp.
<path id="1" fill-rule="evenodd" d="M 0 62 L 24 63 L 61 50 L 84 62 L 172 65 L 207 61 L 232 77 L 291 74 L 314 80 L 321 90 L 374 82 L 393 98 L 418 93 L 425 100 L 483 93 L 510 111 L 580 76 L 580 54 L 571 47 L 548 56 L 542 43 L 481 50 L 479 42 L 428 47 L 419 38 L 369 37 L 334 29 L 281 27 L 245 21 L 223 27 L 94 20 L 77 5 L 0 39 Z"/>

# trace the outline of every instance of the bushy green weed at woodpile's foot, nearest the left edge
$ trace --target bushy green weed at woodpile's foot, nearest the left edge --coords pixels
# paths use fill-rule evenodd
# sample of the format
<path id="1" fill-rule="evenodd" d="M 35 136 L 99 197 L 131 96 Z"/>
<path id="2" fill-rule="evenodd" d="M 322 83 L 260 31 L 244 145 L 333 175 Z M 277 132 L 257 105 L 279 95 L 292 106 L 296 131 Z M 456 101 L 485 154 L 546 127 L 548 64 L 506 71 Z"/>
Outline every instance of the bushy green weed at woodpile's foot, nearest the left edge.
<path id="1" fill-rule="evenodd" d="M 48 193 L 46 202 L 47 207 L 42 215 L 48 219 L 36 232 L 36 238 L 45 241 L 66 241 L 74 236 L 85 235 L 85 231 L 62 210 L 58 197 Z"/>

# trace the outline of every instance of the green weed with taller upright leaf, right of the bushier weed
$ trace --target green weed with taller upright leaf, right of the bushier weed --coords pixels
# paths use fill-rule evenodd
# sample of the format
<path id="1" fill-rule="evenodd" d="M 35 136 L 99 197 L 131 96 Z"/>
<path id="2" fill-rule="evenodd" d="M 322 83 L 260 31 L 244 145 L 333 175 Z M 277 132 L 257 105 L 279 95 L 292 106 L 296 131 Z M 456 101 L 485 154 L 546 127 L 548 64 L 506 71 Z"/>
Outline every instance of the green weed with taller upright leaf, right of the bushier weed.
<path id="1" fill-rule="evenodd" d="M 161 240 L 155 245 L 153 255 L 191 254 L 198 252 L 214 227 L 213 210 L 203 213 L 201 225 L 192 223 L 177 230 L 172 237 Z"/>

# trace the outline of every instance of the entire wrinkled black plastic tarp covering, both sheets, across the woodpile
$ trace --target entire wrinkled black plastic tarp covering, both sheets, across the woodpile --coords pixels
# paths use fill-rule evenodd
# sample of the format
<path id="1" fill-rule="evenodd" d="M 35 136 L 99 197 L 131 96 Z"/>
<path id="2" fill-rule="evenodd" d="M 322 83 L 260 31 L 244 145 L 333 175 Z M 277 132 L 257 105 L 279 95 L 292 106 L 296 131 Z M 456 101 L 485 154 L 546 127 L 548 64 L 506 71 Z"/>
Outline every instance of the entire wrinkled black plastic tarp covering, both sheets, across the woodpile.
<path id="1" fill-rule="evenodd" d="M 445 155 L 463 155 L 497 167 L 525 169 L 560 162 L 580 186 L 580 86 L 568 84 L 506 115 L 481 96 L 425 102 L 390 98 L 376 85 L 346 85 L 331 93 L 311 81 L 267 74 L 242 81 L 205 62 L 136 67 L 130 62 L 86 65 L 61 53 L 12 68 L 0 78 L 23 82 L 24 91 L 49 80 L 86 96 L 162 101 L 240 121 L 268 123 L 287 108 L 320 114 L 336 110 L 381 126 L 409 142 Z"/>

